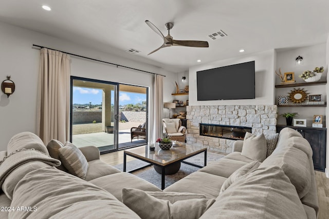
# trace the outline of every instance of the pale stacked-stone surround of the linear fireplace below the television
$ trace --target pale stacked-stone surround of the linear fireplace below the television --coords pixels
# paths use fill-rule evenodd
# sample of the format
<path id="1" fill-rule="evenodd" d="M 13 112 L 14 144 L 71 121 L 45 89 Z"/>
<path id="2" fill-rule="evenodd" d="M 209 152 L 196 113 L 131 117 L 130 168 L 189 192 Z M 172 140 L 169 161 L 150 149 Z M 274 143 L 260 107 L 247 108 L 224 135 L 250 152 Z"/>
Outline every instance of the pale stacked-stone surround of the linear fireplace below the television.
<path id="1" fill-rule="evenodd" d="M 200 123 L 251 127 L 255 135 L 276 133 L 276 105 L 187 106 L 187 143 L 231 153 L 235 140 L 200 135 Z"/>

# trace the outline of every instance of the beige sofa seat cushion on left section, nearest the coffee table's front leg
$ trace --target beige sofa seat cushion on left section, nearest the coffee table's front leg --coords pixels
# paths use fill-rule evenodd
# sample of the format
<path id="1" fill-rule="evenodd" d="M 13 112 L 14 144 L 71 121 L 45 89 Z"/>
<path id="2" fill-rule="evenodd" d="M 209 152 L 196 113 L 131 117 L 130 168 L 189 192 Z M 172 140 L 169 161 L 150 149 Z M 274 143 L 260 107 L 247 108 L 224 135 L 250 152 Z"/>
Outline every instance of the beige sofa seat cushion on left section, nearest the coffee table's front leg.
<path id="1" fill-rule="evenodd" d="M 95 178 L 95 180 L 91 180 L 89 182 L 113 194 L 116 198 L 118 198 L 119 201 L 122 200 L 121 196 L 123 188 L 134 188 L 143 191 L 154 192 L 162 191 L 152 183 L 149 183 L 148 181 L 145 181 L 142 178 L 139 178 L 127 172 L 120 172 L 102 176 L 99 178 Z"/>

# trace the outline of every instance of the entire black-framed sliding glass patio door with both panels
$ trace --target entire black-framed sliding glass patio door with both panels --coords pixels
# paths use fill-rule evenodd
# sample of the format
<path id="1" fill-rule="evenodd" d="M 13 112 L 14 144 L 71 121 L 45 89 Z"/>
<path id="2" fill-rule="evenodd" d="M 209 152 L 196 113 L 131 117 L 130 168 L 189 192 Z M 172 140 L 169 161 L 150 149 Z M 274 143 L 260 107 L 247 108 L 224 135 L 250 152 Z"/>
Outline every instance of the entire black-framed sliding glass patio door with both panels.
<path id="1" fill-rule="evenodd" d="M 148 142 L 148 88 L 71 76 L 70 141 L 101 153 Z"/>

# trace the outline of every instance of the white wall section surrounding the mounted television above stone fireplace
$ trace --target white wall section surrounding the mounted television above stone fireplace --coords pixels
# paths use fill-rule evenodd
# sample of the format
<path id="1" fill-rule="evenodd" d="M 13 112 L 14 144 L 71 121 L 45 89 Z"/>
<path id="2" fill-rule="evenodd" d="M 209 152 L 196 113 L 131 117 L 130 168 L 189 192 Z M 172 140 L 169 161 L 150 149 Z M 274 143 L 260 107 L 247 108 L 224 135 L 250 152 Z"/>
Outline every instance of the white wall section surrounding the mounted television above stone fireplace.
<path id="1" fill-rule="evenodd" d="M 273 105 L 274 104 L 274 57 L 275 51 L 268 50 L 251 55 L 216 61 L 209 64 L 191 67 L 189 71 L 189 105 L 215 106 L 215 105 Z M 197 101 L 196 72 L 206 69 L 218 68 L 238 63 L 255 61 L 255 99 L 230 99 L 222 101 Z M 239 89 L 234 87 L 232 89 Z M 229 91 L 228 91 L 229 92 Z M 243 91 L 241 91 L 243 92 Z"/>

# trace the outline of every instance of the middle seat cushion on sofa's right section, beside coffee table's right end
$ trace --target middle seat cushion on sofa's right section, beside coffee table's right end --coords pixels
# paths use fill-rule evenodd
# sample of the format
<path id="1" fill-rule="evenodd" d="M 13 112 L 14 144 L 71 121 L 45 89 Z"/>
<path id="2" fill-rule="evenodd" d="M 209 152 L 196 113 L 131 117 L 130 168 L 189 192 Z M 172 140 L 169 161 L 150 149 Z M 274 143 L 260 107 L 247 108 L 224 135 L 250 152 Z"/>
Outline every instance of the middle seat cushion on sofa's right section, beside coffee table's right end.
<path id="1" fill-rule="evenodd" d="M 229 177 L 235 170 L 246 165 L 242 161 L 235 161 L 231 159 L 220 159 L 216 162 L 208 164 L 204 168 L 199 169 L 200 172 L 210 173 L 218 176 Z"/>

